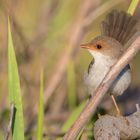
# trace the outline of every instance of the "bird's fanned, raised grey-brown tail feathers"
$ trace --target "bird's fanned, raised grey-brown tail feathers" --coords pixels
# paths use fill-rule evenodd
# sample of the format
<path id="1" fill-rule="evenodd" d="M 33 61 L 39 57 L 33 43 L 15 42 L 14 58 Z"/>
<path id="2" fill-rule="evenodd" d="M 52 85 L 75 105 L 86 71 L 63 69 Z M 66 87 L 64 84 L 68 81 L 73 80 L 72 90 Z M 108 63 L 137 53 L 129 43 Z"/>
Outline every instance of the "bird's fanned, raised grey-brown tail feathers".
<path id="1" fill-rule="evenodd" d="M 111 11 L 101 23 L 102 35 L 112 37 L 122 45 L 136 33 L 137 20 L 124 11 Z"/>

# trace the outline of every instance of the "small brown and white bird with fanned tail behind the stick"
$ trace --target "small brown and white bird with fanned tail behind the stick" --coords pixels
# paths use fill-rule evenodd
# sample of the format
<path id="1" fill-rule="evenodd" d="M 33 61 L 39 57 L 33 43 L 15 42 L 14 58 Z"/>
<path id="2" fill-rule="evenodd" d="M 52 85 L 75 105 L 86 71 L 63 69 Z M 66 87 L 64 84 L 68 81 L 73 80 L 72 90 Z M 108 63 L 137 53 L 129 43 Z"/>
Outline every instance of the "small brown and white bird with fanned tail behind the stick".
<path id="1" fill-rule="evenodd" d="M 91 96 L 94 96 L 107 72 L 126 51 L 127 43 L 137 32 L 137 20 L 134 16 L 118 10 L 112 10 L 101 22 L 101 35 L 92 39 L 89 43 L 82 44 L 92 55 L 87 71 L 84 74 L 85 85 Z M 115 97 L 122 95 L 129 87 L 132 80 L 130 65 L 126 65 L 117 76 L 108 90 L 112 97 L 118 114 L 119 108 Z"/>

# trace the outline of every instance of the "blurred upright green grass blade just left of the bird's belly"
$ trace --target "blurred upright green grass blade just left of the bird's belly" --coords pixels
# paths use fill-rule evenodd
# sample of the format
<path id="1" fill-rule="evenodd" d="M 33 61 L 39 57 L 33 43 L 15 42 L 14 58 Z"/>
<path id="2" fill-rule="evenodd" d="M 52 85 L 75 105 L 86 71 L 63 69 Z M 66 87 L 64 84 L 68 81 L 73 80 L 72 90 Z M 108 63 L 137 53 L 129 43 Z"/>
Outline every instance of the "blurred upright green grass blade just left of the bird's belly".
<path id="1" fill-rule="evenodd" d="M 73 60 L 67 66 L 68 105 L 70 109 L 76 106 L 76 76 L 74 66 Z"/>

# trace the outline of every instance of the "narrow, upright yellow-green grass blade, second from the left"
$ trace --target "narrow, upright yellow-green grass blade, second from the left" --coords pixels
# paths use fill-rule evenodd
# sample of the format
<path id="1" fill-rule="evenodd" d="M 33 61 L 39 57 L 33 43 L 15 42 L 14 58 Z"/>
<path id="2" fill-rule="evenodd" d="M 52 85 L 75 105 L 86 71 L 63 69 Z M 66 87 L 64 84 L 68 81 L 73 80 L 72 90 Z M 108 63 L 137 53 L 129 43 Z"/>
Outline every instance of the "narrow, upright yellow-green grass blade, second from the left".
<path id="1" fill-rule="evenodd" d="M 43 119 L 44 119 L 44 80 L 43 72 L 40 75 L 40 96 L 39 96 L 39 113 L 37 121 L 37 140 L 42 140 L 43 138 Z"/>

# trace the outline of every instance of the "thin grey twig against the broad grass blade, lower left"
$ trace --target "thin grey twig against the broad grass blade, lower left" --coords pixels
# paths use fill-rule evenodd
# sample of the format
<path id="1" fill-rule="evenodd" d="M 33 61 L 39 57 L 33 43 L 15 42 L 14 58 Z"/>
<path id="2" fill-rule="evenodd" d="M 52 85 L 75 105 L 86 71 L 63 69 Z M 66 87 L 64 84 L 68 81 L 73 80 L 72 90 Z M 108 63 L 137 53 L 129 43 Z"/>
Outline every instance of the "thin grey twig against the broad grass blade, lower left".
<path id="1" fill-rule="evenodd" d="M 13 126 L 14 114 L 15 114 L 15 106 L 14 106 L 14 104 L 11 104 L 11 107 L 10 107 L 10 120 L 9 120 L 9 125 L 7 127 L 5 140 L 9 139 L 9 135 L 10 135 L 10 132 L 11 132 L 11 129 L 12 129 L 12 126 Z"/>

